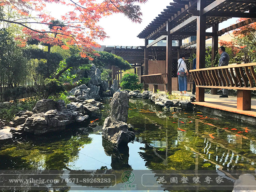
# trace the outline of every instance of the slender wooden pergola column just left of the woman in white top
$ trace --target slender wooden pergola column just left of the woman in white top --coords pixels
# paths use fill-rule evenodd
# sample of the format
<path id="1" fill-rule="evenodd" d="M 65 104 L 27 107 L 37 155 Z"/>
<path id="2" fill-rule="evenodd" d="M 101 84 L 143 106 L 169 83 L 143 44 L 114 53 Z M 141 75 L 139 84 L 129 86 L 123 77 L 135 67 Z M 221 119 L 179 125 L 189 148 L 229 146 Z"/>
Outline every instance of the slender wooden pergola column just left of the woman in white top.
<path id="1" fill-rule="evenodd" d="M 166 91 L 171 94 L 172 92 L 172 35 L 169 34 L 171 30 L 171 24 L 169 21 L 166 23 L 166 30 L 168 35 L 166 36 Z"/>

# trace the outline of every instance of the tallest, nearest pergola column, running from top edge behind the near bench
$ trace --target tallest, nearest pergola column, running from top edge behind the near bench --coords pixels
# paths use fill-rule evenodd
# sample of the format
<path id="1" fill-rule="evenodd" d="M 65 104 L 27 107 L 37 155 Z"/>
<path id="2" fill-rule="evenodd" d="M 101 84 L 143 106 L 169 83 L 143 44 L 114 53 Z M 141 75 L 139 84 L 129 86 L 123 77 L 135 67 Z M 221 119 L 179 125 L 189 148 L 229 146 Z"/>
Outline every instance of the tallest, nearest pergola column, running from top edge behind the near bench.
<path id="1" fill-rule="evenodd" d="M 206 5 L 205 0 L 197 0 L 197 69 L 205 68 L 205 25 L 206 16 L 202 15 L 202 10 Z M 204 101 L 204 88 L 196 87 L 196 101 Z"/>

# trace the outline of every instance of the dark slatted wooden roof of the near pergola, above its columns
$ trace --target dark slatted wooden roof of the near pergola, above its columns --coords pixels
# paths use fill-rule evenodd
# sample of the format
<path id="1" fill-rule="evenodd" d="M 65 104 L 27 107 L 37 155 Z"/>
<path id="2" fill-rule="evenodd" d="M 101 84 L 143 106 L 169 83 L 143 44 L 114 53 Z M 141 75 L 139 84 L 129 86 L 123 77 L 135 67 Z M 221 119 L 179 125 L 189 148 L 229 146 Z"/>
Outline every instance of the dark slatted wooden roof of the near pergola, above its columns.
<path id="1" fill-rule="evenodd" d="M 181 24 L 183 21 L 187 20 L 191 16 L 188 10 L 197 10 L 196 0 L 173 0 L 171 6 L 167 6 L 161 14 L 159 14 L 151 23 L 138 35 L 141 39 L 151 39 L 155 40 L 159 38 L 162 34 L 157 33 L 158 31 L 166 31 L 166 21 L 170 21 L 172 27 Z M 211 4 L 215 0 L 207 0 L 207 5 Z M 211 11 L 221 11 L 221 12 L 246 12 L 252 8 L 256 7 L 256 0 L 228 0 L 221 5 L 217 6 Z M 206 28 L 212 27 L 213 24 L 221 23 L 231 17 L 207 16 L 206 18 Z M 192 23 L 183 27 L 180 31 L 182 32 L 195 32 L 197 29 L 196 20 Z M 179 35 L 179 32 L 173 34 L 173 40 L 185 39 L 191 35 Z"/>

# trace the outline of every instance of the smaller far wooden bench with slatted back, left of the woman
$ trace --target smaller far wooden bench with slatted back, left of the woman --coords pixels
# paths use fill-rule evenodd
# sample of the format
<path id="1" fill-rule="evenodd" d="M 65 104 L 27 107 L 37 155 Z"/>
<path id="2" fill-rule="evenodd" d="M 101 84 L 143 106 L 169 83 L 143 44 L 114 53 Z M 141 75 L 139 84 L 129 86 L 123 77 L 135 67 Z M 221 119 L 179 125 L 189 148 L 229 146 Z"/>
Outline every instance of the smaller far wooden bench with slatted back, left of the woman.
<path id="1" fill-rule="evenodd" d="M 158 74 L 151 74 L 151 75 L 142 75 L 141 80 L 146 85 L 154 85 L 153 92 L 157 92 L 158 85 L 164 85 L 166 91 L 166 82 L 163 75 L 168 75 L 168 73 L 158 73 Z"/>

